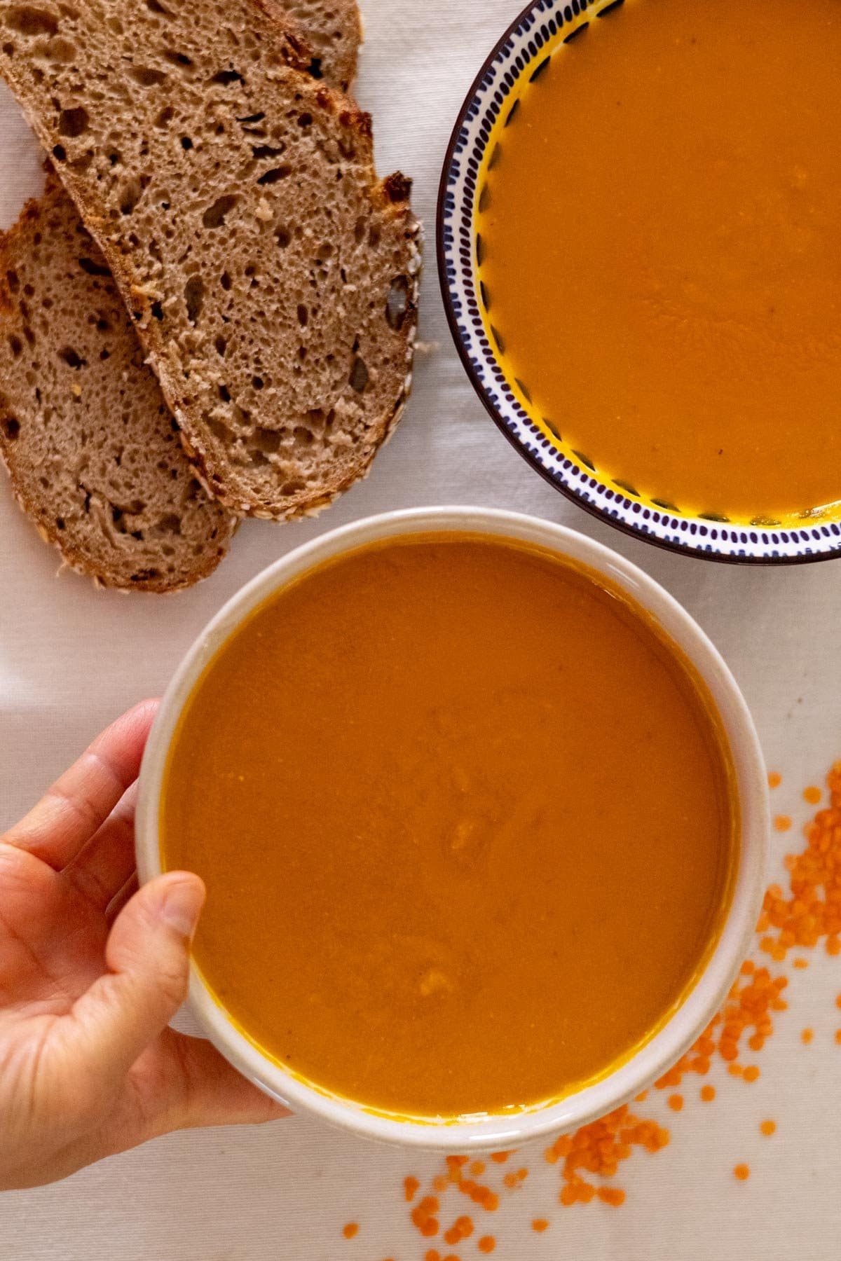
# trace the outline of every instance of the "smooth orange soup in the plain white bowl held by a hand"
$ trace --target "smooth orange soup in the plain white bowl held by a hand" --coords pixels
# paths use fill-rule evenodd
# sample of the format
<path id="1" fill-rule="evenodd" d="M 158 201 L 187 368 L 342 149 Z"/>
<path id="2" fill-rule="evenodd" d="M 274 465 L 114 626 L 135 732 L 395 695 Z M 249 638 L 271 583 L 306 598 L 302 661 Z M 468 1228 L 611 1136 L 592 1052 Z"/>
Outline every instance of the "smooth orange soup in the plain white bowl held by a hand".
<path id="1" fill-rule="evenodd" d="M 456 533 L 262 604 L 189 699 L 160 821 L 253 1042 L 460 1116 L 564 1095 L 658 1028 L 717 934 L 736 813 L 658 629 L 589 571 Z"/>

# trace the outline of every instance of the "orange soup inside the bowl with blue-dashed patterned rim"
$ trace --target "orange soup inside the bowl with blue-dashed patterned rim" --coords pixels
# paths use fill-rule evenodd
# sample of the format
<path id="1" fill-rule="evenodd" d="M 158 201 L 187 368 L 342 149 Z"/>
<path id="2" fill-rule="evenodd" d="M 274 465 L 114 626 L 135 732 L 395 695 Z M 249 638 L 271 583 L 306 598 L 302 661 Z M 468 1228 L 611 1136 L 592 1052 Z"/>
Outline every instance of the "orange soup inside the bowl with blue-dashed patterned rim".
<path id="1" fill-rule="evenodd" d="M 840 76 L 838 0 L 625 0 L 506 106 L 487 320 L 603 479 L 731 520 L 837 514 Z"/>

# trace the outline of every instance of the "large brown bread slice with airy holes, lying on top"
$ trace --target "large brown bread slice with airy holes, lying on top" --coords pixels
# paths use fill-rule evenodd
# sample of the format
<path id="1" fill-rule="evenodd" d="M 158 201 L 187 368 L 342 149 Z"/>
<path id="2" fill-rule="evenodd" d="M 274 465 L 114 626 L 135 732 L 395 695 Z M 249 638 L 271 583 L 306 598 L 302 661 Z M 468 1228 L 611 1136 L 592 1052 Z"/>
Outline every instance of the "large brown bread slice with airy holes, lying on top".
<path id="1" fill-rule="evenodd" d="M 411 383 L 419 226 L 269 0 L 0 3 L 0 71 L 102 246 L 204 484 L 318 511 Z"/>

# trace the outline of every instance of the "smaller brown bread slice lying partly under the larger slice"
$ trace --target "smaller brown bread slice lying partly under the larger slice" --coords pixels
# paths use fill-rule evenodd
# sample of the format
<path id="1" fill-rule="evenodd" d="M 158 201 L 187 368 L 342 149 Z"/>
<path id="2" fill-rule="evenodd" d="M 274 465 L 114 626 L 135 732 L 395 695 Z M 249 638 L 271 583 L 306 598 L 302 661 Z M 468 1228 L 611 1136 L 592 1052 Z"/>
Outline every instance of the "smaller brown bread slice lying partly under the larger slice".
<path id="1" fill-rule="evenodd" d="M 199 485 L 54 177 L 0 236 L 0 454 L 42 536 L 105 586 L 189 586 L 228 549 L 236 518 Z"/>

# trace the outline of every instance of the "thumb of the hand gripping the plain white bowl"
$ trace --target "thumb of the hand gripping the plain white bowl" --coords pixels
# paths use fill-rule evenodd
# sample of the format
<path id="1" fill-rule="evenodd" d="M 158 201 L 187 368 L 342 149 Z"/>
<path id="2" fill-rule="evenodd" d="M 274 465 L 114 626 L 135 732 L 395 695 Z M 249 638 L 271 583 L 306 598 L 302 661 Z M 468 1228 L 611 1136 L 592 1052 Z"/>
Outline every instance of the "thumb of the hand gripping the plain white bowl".
<path id="1" fill-rule="evenodd" d="M 200 879 L 171 871 L 139 889 L 115 919 L 108 972 L 73 1005 L 77 1035 L 103 1072 L 127 1073 L 184 1001 L 203 903 Z"/>

